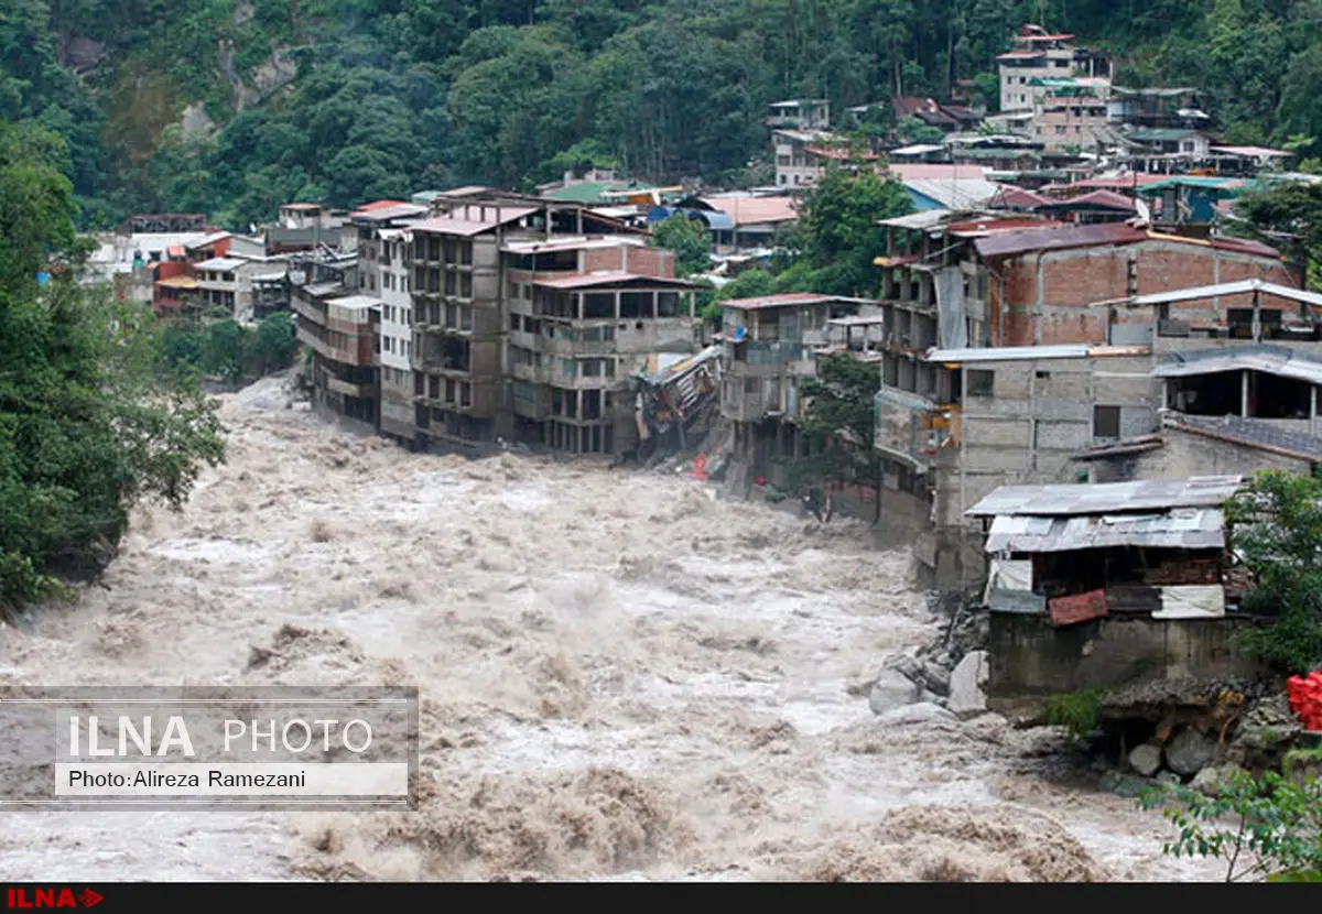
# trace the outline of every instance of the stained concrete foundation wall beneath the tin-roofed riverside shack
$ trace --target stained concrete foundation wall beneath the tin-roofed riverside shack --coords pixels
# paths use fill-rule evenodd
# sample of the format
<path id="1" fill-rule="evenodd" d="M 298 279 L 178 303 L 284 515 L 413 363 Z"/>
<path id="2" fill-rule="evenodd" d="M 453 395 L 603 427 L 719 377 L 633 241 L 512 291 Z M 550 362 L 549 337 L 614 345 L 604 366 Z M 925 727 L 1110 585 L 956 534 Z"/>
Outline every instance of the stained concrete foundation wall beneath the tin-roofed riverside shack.
<path id="1" fill-rule="evenodd" d="M 1046 615 L 992 613 L 988 696 L 1044 697 L 1163 679 L 1252 675 L 1255 664 L 1231 649 L 1232 633 L 1251 623 L 1136 614 L 1056 629 Z"/>

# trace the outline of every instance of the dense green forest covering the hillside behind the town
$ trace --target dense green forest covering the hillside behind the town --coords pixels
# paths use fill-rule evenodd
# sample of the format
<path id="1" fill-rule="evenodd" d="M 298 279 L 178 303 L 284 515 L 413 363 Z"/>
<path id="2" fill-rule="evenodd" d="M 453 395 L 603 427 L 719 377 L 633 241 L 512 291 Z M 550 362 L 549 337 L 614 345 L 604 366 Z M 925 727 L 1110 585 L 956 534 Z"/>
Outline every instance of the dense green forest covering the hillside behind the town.
<path id="1" fill-rule="evenodd" d="M 9 0 L 0 119 L 65 137 L 85 226 L 580 162 L 738 184 L 767 102 L 994 94 L 1027 21 L 1202 87 L 1232 141 L 1322 135 L 1322 0 Z"/>

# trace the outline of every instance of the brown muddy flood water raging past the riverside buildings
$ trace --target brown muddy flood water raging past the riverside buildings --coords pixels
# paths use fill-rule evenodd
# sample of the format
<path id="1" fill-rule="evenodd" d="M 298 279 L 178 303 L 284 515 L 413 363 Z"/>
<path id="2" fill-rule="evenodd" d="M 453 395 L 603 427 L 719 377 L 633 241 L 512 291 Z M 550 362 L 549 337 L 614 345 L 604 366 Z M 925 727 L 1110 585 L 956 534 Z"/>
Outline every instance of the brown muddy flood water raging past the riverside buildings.
<path id="1" fill-rule="evenodd" d="M 408 454 L 279 380 L 222 399 L 229 462 L 135 518 L 106 586 L 4 629 L 3 682 L 415 684 L 422 808 L 11 812 L 8 880 L 1220 876 L 1056 777 L 1055 730 L 880 724 L 851 687 L 940 621 L 866 527 Z"/>

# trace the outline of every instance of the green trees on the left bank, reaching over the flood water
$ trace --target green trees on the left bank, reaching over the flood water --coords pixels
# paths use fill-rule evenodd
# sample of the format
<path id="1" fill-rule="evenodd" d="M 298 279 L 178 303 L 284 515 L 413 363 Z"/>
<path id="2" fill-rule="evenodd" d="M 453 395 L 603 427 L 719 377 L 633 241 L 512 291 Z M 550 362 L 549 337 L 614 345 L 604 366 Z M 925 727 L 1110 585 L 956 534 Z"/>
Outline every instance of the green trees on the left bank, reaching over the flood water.
<path id="1" fill-rule="evenodd" d="M 214 404 L 151 312 L 79 287 L 67 152 L 0 124 L 0 610 L 104 565 L 140 499 L 178 506 L 223 458 Z M 50 269 L 52 280 L 37 275 Z"/>

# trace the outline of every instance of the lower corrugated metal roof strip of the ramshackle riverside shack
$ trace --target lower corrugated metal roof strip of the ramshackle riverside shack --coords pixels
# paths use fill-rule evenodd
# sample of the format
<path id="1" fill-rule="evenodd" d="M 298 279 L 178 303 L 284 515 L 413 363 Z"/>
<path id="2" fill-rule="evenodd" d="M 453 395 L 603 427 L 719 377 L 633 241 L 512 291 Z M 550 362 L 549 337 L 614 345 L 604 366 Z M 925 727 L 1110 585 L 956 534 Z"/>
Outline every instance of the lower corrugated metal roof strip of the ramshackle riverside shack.
<path id="1" fill-rule="evenodd" d="M 998 516 L 988 552 L 1072 552 L 1142 545 L 1158 549 L 1216 549 L 1225 545 L 1219 509 L 1174 509 L 1155 514 L 1072 518 Z"/>

